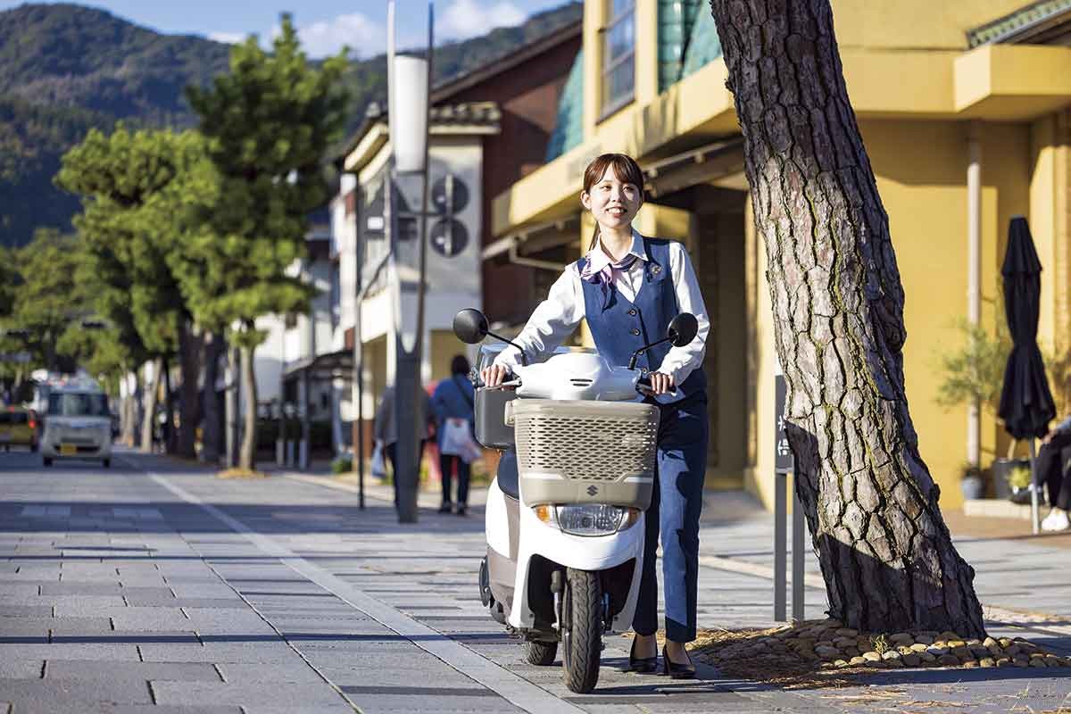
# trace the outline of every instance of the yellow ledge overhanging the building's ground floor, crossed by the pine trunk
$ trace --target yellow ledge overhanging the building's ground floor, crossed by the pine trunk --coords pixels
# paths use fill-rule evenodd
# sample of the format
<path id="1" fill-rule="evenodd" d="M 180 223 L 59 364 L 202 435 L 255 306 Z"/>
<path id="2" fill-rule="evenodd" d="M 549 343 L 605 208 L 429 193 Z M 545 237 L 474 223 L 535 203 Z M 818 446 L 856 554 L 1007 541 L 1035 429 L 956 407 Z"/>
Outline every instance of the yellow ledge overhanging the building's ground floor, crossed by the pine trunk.
<path id="1" fill-rule="evenodd" d="M 1071 105 L 1069 47 L 845 48 L 841 59 L 851 106 L 861 119 L 1027 121 Z M 715 60 L 650 104 L 628 107 L 600 123 L 594 136 L 494 198 L 492 233 L 508 236 L 575 212 L 584 169 L 601 153 L 624 152 L 647 167 L 693 147 L 739 137 L 726 74 L 724 61 Z"/>

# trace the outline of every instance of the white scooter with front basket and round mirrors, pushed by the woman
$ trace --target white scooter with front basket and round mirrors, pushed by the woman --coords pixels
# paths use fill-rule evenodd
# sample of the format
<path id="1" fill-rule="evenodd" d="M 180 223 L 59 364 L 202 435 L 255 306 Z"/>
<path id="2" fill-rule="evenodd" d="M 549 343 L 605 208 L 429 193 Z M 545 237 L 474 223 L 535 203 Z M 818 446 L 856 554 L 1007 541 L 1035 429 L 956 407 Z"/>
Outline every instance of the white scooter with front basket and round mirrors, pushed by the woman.
<path id="1" fill-rule="evenodd" d="M 632 364 L 654 345 L 691 343 L 696 329 L 694 316 L 678 315 Z M 509 341 L 476 309 L 456 315 L 454 333 L 470 345 L 488 335 Z M 477 375 L 500 349 L 481 348 Z M 530 664 L 554 664 L 560 641 L 565 686 L 588 693 L 603 634 L 632 627 L 659 411 L 637 401 L 649 393 L 645 370 L 612 366 L 594 350 L 562 348 L 514 371 L 501 388 L 477 380 L 477 440 L 501 452 L 487 491 L 480 598 L 524 638 Z"/>

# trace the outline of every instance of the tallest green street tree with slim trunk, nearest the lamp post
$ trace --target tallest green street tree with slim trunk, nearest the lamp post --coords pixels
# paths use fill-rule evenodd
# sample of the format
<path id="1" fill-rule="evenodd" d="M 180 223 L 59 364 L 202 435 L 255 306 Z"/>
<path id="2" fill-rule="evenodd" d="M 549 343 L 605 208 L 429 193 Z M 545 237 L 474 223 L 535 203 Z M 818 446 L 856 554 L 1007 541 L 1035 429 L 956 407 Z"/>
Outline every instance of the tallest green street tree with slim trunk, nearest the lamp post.
<path id="1" fill-rule="evenodd" d="M 255 466 L 253 353 L 265 338 L 255 321 L 307 306 L 308 286 L 286 269 L 304 255 L 308 212 L 328 198 L 322 161 L 345 123 L 345 67 L 346 50 L 311 63 L 284 14 L 271 52 L 251 36 L 231 51 L 230 74 L 186 91 L 210 140 L 218 193 L 206 216 L 211 230 L 187 246 L 190 264 L 205 270 L 181 278 L 197 320 L 226 325 L 241 350 L 244 469 Z"/>

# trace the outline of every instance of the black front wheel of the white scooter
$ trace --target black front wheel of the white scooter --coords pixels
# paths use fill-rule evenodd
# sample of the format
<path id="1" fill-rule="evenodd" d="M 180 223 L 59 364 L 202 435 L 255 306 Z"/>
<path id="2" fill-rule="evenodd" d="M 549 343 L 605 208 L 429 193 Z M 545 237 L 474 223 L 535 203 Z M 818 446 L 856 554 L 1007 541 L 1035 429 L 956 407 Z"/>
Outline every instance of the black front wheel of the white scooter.
<path id="1" fill-rule="evenodd" d="M 562 655 L 565 686 L 570 692 L 587 694 L 599 682 L 602 658 L 602 582 L 598 573 L 565 572 L 562 602 Z"/>

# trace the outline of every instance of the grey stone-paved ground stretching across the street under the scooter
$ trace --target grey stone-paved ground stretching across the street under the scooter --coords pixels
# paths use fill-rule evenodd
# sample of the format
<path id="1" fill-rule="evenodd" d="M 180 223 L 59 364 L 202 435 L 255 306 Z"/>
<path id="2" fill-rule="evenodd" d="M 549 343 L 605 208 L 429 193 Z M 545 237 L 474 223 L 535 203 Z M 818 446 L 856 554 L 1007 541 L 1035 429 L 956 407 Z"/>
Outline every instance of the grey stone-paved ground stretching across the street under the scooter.
<path id="1" fill-rule="evenodd" d="M 110 471 L 0 458 L 0 713 L 3 702 L 13 714 L 855 712 L 889 711 L 890 697 L 894 711 L 914 700 L 929 702 L 914 711 L 1040 712 L 1071 690 L 1059 670 L 1019 669 L 880 672 L 836 692 L 782 692 L 708 667 L 670 682 L 622 671 L 628 640 L 616 637 L 597 692 L 576 696 L 560 667 L 525 664 L 483 611 L 478 505 L 399 526 L 381 486 L 360 511 L 337 480 L 221 481 L 139 455 Z M 740 498 L 711 495 L 707 510 L 706 627 L 770 624 L 770 519 Z M 1027 634 L 1067 645 L 1062 551 L 984 538 L 961 548 L 986 604 L 1051 605 L 1055 617 Z M 824 590 L 808 598 L 809 617 L 821 617 Z"/>

